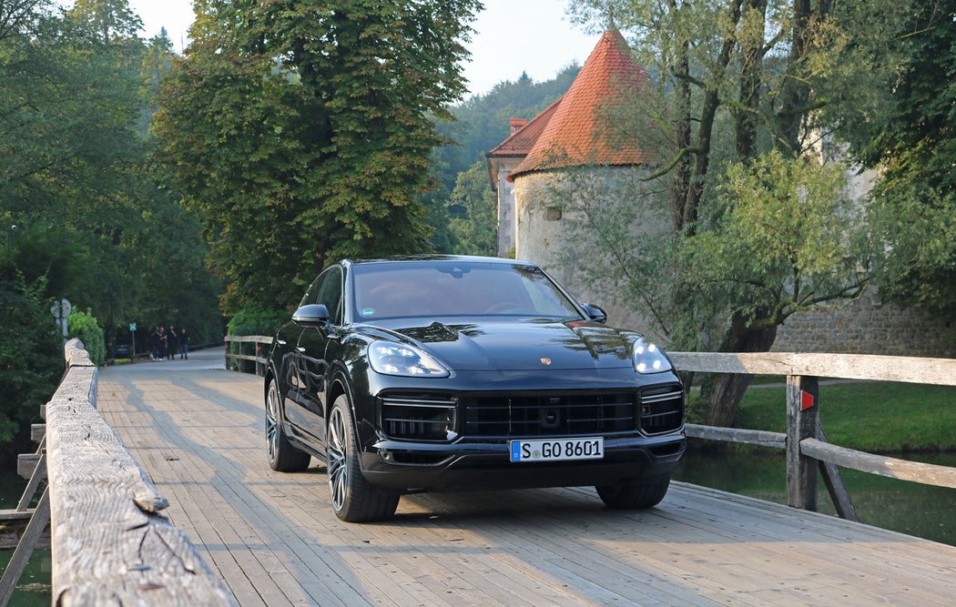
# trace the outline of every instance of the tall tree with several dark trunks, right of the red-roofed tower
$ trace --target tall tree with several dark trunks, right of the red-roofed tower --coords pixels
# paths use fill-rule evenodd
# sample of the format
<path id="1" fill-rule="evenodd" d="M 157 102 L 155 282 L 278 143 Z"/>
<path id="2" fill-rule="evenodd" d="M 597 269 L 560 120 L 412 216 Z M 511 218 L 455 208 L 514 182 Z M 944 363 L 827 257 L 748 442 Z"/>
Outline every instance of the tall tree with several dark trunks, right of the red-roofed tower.
<path id="1" fill-rule="evenodd" d="M 905 32 L 907 11 L 907 3 L 861 0 L 577 3 L 574 12 L 579 20 L 601 28 L 610 20 L 632 33 L 641 62 L 651 66 L 652 74 L 660 75 L 655 82 L 658 102 L 636 99 L 630 107 L 619 108 L 611 117 L 617 119 L 610 121 L 624 127 L 620 137 L 639 136 L 633 130 L 638 126 L 644 129 L 642 135 L 662 143 L 651 148 L 660 158 L 656 170 L 644 179 L 659 182 L 653 187 L 662 190 L 670 202 L 674 237 L 667 250 L 705 266 L 713 263 L 706 257 L 685 254 L 684 249 L 698 249 L 695 241 L 699 236 L 727 235 L 722 228 L 727 206 L 722 201 L 728 196 L 727 167 L 732 163 L 785 163 L 779 158 L 762 160 L 776 150 L 790 159 L 786 162 L 793 164 L 790 170 L 799 173 L 801 157 L 829 159 L 829 149 L 821 153 L 818 148 L 821 141 L 824 147 L 833 141 L 831 131 L 865 122 L 866 116 L 880 111 L 879 92 L 893 81 L 900 64 L 900 45 L 895 40 Z M 649 131 L 648 125 L 653 125 Z M 761 170 L 767 170 L 766 164 L 762 166 Z M 836 187 L 835 182 L 824 183 Z M 843 219 L 836 216 L 825 221 L 840 223 Z M 757 231 L 761 226 L 752 224 L 750 229 Z M 614 238 L 592 238 L 591 242 L 598 249 L 612 244 L 617 247 L 600 250 L 607 259 L 615 259 L 621 249 L 641 249 L 633 237 L 631 244 L 623 247 L 621 240 Z M 766 244 L 778 250 L 794 247 L 785 241 Z M 757 264 L 759 258 L 743 261 Z M 659 262 L 667 263 L 661 258 Z M 645 263 L 626 271 L 607 269 L 604 278 L 628 276 L 633 289 L 641 293 L 631 300 L 653 302 L 650 309 L 666 316 L 659 317 L 659 324 L 678 347 L 769 350 L 776 326 L 785 318 L 776 311 L 788 295 L 777 292 L 767 300 L 756 291 L 728 289 L 719 293 L 722 299 L 702 300 L 694 277 L 706 273 L 707 268 L 691 268 L 675 275 Z M 664 285 L 656 282 L 663 275 L 672 278 L 664 283 L 664 290 Z M 844 278 L 860 282 L 856 272 Z M 817 292 L 815 300 L 824 304 L 847 294 L 837 287 Z M 678 317 L 673 317 L 674 313 Z M 716 379 L 709 407 L 715 417 L 709 421 L 731 424 L 749 383 L 748 376 Z M 728 399 L 729 405 L 718 406 L 718 399 Z"/>

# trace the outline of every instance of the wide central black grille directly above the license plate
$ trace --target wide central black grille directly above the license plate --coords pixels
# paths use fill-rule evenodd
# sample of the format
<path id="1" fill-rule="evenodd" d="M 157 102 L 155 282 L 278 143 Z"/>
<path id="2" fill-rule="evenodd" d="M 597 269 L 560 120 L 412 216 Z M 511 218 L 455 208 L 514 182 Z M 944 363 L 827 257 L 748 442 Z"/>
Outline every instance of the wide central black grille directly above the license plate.
<path id="1" fill-rule="evenodd" d="M 464 434 L 532 437 L 634 431 L 634 398 L 634 392 L 467 397 Z"/>

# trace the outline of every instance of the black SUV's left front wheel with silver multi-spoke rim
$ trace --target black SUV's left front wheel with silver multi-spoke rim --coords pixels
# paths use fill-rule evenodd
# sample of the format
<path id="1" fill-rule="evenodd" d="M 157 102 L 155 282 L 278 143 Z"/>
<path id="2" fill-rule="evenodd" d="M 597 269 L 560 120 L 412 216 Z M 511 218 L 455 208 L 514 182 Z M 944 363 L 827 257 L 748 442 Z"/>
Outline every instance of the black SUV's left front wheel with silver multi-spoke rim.
<path id="1" fill-rule="evenodd" d="M 352 407 L 343 394 L 332 405 L 325 433 L 329 501 L 347 523 L 380 521 L 395 515 L 400 495 L 374 487 L 361 474 Z"/>

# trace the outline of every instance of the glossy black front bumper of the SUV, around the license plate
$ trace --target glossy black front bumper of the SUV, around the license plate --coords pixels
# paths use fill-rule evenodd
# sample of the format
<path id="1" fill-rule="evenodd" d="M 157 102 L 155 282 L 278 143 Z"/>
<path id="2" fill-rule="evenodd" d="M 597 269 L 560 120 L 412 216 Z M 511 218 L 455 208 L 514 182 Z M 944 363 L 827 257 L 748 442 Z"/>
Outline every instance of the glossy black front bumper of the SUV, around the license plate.
<path id="1" fill-rule="evenodd" d="M 359 420 L 360 466 L 366 480 L 378 487 L 408 492 L 416 490 L 471 490 L 495 488 L 545 488 L 617 485 L 661 478 L 670 473 L 684 453 L 683 396 L 679 410 L 672 411 L 676 419 L 666 427 L 644 427 L 655 417 L 655 407 L 660 406 L 649 395 L 660 392 L 683 392 L 680 380 L 672 373 L 657 376 L 636 376 L 632 369 L 607 369 L 580 373 L 554 372 L 469 372 L 459 373 L 451 379 L 411 380 L 388 379 L 371 375 L 367 400 L 357 402 Z M 560 404 L 542 404 L 548 409 L 561 409 L 555 417 L 561 421 L 572 418 L 568 410 L 577 407 L 578 401 L 564 401 L 564 397 L 576 399 L 591 395 L 632 395 L 633 419 L 619 425 L 614 422 L 599 423 L 589 427 L 587 423 L 551 427 L 546 416 L 527 415 L 513 423 L 489 422 L 481 414 L 471 415 L 477 399 L 513 397 L 526 409 L 546 402 L 546 397 L 558 397 Z M 424 398 L 423 393 L 427 393 Z M 375 396 L 371 396 L 375 395 Z M 423 401 L 454 402 L 454 432 L 448 441 L 416 440 L 412 437 L 395 438 L 383 429 L 381 413 L 382 395 L 418 395 Z M 671 395 L 672 396 L 672 395 Z M 545 400 L 542 400 L 542 397 Z M 534 400 L 537 399 L 537 400 Z M 584 399 L 587 401 L 588 399 Z M 620 412 L 620 401 L 611 398 L 596 401 L 608 415 Z M 500 405 L 501 402 L 492 402 Z M 480 408 L 481 405 L 476 405 Z M 492 408 L 495 408 L 492 406 Z M 496 408 L 501 408 L 500 406 Z M 452 418 L 448 418 L 449 422 Z M 619 418 L 615 418 L 619 419 Z M 558 427 L 561 426 L 561 427 Z M 436 427 L 441 427 L 438 424 Z M 509 430 L 506 432 L 506 429 Z M 483 433 L 482 430 L 486 430 Z M 526 434 L 526 431 L 528 432 Z M 452 438 L 457 435 L 457 438 Z M 444 436 L 444 435 L 443 435 Z M 601 460 L 575 460 L 564 462 L 512 463 L 510 441 L 514 439 L 562 439 L 568 437 L 604 438 L 604 458 Z"/>

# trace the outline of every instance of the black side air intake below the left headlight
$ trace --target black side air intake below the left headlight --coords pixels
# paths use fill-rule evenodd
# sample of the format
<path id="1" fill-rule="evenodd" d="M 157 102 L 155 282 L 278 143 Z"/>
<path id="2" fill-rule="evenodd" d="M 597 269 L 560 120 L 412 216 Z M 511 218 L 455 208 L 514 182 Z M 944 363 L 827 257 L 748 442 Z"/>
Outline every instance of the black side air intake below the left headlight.
<path id="1" fill-rule="evenodd" d="M 394 439 L 450 441 L 456 436 L 458 400 L 453 397 L 401 395 L 380 401 L 381 429 Z"/>

